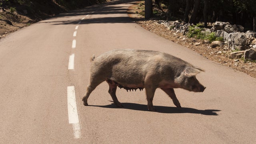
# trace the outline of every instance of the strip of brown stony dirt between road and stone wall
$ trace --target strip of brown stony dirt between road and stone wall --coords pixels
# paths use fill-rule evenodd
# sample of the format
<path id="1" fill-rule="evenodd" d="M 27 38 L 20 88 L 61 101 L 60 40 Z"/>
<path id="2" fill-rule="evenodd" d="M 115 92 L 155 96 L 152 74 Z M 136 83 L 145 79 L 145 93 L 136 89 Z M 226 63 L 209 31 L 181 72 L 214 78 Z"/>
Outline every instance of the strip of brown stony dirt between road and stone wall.
<path id="1" fill-rule="evenodd" d="M 143 8 L 141 8 L 142 6 L 144 6 L 142 3 L 144 2 L 137 2 L 137 4 L 130 6 L 130 8 L 128 9 L 128 15 L 134 20 L 134 22 L 136 22 L 146 30 L 149 30 L 150 32 L 153 32 L 159 36 L 162 36 L 163 38 L 176 42 L 182 46 L 186 46 L 187 48 L 194 50 L 195 52 L 201 54 L 207 59 L 213 60 L 214 62 L 228 67 L 232 67 L 235 70 L 244 72 L 256 78 L 256 63 L 249 61 L 247 62 L 242 59 L 234 60 L 228 58 L 229 54 L 232 51 L 224 49 L 227 45 L 222 44 L 221 46 L 218 46 L 216 48 L 211 48 L 210 43 L 205 40 L 187 38 L 185 35 L 179 32 L 175 32 L 166 28 L 166 26 L 162 24 L 158 24 L 157 22 L 159 18 L 144 20 L 144 16 L 141 15 L 144 11 Z"/>

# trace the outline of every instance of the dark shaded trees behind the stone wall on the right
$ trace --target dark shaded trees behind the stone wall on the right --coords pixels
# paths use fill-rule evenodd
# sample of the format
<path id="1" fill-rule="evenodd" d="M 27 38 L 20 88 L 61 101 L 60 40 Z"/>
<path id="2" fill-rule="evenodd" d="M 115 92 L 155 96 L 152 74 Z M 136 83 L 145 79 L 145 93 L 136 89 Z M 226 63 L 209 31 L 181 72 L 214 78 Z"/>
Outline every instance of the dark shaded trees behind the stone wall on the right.
<path id="1" fill-rule="evenodd" d="M 164 20 L 194 25 L 202 22 L 204 27 L 221 21 L 253 30 L 256 17 L 255 0 L 145 0 L 145 19 L 154 17 L 154 7 L 161 11 Z"/>

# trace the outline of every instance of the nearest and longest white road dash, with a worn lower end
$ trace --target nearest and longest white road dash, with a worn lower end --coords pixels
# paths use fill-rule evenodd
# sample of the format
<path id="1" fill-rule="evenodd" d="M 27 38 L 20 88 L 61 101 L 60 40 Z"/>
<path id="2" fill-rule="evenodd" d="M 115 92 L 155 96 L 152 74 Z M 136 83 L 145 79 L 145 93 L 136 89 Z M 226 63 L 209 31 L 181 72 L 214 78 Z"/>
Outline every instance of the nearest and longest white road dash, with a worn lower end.
<path id="1" fill-rule="evenodd" d="M 78 110 L 76 106 L 76 93 L 74 86 L 68 86 L 68 122 L 73 125 L 74 138 L 81 137 L 81 125 L 78 118 Z"/>

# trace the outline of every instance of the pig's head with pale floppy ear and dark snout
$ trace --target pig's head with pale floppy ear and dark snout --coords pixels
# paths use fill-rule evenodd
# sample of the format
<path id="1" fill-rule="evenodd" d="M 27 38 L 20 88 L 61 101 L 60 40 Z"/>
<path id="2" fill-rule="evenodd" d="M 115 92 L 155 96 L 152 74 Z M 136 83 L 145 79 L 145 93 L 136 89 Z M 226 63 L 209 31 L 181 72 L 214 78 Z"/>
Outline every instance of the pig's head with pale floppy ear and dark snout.
<path id="1" fill-rule="evenodd" d="M 176 79 L 176 82 L 178 82 L 181 88 L 185 90 L 192 92 L 204 92 L 206 87 L 200 84 L 200 82 L 196 79 L 196 74 L 200 73 L 201 71 L 204 70 L 188 66 Z"/>

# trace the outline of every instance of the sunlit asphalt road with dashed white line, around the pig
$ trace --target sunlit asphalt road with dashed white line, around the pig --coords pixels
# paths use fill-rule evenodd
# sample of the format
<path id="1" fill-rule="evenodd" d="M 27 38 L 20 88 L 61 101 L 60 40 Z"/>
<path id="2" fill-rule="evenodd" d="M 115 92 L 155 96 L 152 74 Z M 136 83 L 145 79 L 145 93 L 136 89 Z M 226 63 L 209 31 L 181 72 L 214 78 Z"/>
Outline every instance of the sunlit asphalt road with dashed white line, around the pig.
<path id="1" fill-rule="evenodd" d="M 0 39 L 1 144 L 253 144 L 256 79 L 144 30 L 128 18 L 134 1 L 70 11 Z M 100 84 L 83 106 L 90 57 L 116 48 L 158 50 L 206 70 L 203 93 L 176 89 L 183 108 L 160 89 L 147 110 L 145 91 Z"/>

